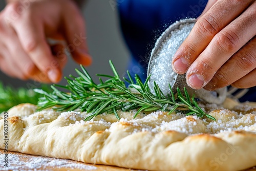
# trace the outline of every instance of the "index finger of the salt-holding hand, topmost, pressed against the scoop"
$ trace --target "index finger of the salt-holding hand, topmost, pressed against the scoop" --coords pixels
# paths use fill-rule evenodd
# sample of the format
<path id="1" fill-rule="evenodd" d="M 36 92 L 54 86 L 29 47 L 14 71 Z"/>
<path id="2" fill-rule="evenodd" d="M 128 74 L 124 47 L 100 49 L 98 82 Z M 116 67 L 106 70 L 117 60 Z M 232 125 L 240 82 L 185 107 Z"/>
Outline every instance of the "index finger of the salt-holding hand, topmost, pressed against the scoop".
<path id="1" fill-rule="evenodd" d="M 184 74 L 191 63 L 204 51 L 211 39 L 236 18 L 251 1 L 217 1 L 200 17 L 173 57 L 172 67 L 178 74 Z"/>

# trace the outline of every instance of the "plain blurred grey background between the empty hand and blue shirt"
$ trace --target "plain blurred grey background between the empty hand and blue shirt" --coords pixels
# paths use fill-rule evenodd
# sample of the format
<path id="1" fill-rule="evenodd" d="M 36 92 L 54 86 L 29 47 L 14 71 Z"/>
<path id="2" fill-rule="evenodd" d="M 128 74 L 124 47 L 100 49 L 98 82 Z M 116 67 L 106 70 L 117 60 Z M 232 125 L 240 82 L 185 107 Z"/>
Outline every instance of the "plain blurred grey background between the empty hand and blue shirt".
<path id="1" fill-rule="evenodd" d="M 5 2 L 0 0 L 0 10 L 4 9 Z M 129 61 L 129 51 L 123 41 L 118 23 L 117 6 L 110 1 L 89 0 L 82 7 L 82 14 L 86 20 L 87 42 L 93 63 L 87 67 L 89 74 L 97 81 L 95 74 L 111 74 L 109 60 L 111 59 L 120 75 L 126 72 Z M 75 68 L 79 65 L 69 58 L 63 76 L 76 75 Z M 0 80 L 4 84 L 12 84 L 14 87 L 35 88 L 38 86 L 34 81 L 21 81 L 10 78 L 0 71 Z M 66 84 L 62 79 L 60 84 Z"/>

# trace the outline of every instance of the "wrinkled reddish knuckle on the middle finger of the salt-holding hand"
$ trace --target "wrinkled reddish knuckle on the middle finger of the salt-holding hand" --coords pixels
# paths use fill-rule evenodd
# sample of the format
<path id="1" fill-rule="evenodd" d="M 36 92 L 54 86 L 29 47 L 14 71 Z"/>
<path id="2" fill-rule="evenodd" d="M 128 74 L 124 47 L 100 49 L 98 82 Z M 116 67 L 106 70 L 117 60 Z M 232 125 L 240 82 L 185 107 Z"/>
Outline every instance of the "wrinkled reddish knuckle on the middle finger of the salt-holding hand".
<path id="1" fill-rule="evenodd" d="M 223 32 L 214 38 L 219 49 L 223 52 L 231 53 L 236 51 L 239 42 L 239 37 L 236 33 Z"/>

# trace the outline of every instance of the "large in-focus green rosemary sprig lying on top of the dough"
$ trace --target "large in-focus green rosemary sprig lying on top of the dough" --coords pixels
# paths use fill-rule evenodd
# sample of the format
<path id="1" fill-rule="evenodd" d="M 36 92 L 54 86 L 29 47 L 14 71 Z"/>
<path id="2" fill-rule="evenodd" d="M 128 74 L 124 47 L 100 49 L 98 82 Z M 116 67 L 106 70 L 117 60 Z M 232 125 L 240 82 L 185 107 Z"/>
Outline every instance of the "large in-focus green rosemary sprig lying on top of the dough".
<path id="1" fill-rule="evenodd" d="M 80 109 L 81 112 L 86 111 L 91 113 L 86 120 L 102 113 L 115 114 L 116 118 L 120 119 L 117 111 L 137 110 L 134 118 L 140 112 L 167 111 L 172 114 L 177 111 L 184 111 L 186 115 L 196 114 L 199 117 L 208 117 L 215 120 L 214 117 L 206 114 L 199 106 L 195 98 L 190 98 L 187 90 L 184 88 L 185 97 L 178 89 L 177 96 L 174 95 L 172 88 L 169 85 L 170 95 L 165 96 L 160 90 L 158 84 L 154 82 L 154 93 L 148 87 L 148 80 L 142 83 L 138 75 L 135 76 L 136 82 L 132 79 L 127 71 L 129 79 L 124 78 L 130 83 L 130 86 L 125 87 L 116 72 L 116 69 L 110 60 L 110 66 L 114 76 L 97 74 L 98 76 L 108 78 L 102 81 L 99 77 L 99 84 L 96 84 L 86 69 L 81 66 L 82 72 L 76 69 L 78 77 L 70 75 L 67 78 L 67 86 L 53 85 L 53 93 L 35 89 L 34 91 L 43 94 L 44 97 L 39 98 L 38 110 L 43 110 L 53 107 L 57 111 L 72 111 Z M 69 92 L 62 92 L 56 87 L 64 88 Z"/>

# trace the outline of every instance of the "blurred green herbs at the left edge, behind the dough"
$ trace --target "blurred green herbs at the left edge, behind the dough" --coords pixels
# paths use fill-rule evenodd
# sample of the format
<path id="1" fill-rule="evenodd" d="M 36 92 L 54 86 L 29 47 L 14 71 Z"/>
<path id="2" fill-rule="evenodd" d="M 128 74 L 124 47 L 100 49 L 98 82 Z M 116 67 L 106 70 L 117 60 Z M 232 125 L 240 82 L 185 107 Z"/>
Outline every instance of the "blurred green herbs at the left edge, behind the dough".
<path id="1" fill-rule="evenodd" d="M 50 92 L 49 87 L 45 84 L 40 88 L 46 92 Z M 4 86 L 4 84 L 0 82 L 0 113 L 8 111 L 14 105 L 20 103 L 37 104 L 39 97 L 42 97 L 42 95 L 35 93 L 32 89 L 14 89 L 11 86 Z"/>

